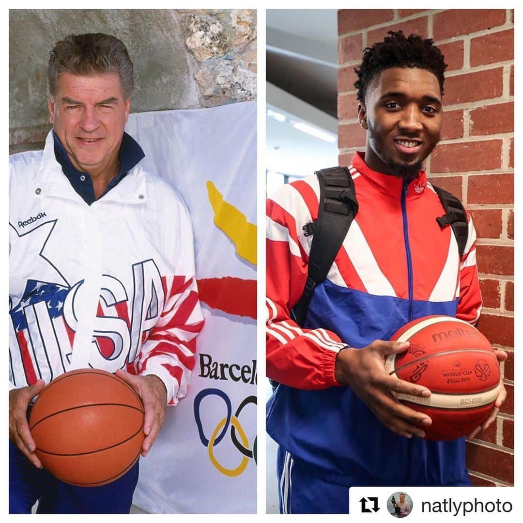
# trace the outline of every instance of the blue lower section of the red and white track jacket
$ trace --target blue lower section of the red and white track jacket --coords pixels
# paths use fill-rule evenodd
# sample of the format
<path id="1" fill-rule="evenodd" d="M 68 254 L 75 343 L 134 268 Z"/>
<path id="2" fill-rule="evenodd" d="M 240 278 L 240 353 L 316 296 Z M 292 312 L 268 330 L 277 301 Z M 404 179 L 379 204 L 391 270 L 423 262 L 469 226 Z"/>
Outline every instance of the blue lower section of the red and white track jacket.
<path id="1" fill-rule="evenodd" d="M 314 291 L 306 328 L 323 327 L 347 345 L 389 339 L 408 323 L 410 302 L 338 287 Z M 412 303 L 414 319 L 456 316 L 457 300 Z M 280 384 L 267 404 L 267 432 L 293 457 L 342 485 L 470 484 L 465 441 L 425 441 L 385 428 L 347 386 L 306 391 Z"/>

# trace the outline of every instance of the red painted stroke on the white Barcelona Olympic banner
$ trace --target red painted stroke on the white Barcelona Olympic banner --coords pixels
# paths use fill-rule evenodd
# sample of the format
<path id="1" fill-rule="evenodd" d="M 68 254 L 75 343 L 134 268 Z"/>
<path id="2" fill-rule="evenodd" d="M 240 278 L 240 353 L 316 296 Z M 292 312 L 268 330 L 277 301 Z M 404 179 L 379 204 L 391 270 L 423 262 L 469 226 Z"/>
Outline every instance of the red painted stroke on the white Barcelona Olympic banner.
<path id="1" fill-rule="evenodd" d="M 200 301 L 212 309 L 256 319 L 256 280 L 224 276 L 202 278 L 197 283 Z"/>

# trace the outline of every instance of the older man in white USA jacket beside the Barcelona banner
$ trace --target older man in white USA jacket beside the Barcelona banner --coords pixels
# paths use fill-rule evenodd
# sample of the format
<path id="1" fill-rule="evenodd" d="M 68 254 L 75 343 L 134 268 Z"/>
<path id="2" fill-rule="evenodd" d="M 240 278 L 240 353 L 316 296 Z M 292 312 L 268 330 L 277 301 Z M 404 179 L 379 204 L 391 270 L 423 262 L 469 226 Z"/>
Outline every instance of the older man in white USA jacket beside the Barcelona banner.
<path id="1" fill-rule="evenodd" d="M 48 67 L 53 130 L 43 151 L 10 157 L 9 510 L 129 512 L 138 462 L 83 488 L 35 454 L 31 400 L 63 372 L 105 369 L 145 407 L 142 456 L 187 392 L 203 316 L 192 228 L 177 192 L 140 167 L 124 127 L 133 65 L 113 36 L 71 35 Z"/>

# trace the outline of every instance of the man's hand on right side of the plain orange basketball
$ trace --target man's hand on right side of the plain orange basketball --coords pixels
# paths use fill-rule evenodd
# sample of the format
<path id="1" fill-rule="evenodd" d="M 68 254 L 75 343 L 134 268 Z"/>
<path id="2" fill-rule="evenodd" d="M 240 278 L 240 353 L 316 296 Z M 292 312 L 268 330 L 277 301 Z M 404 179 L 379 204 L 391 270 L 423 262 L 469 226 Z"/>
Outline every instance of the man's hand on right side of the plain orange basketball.
<path id="1" fill-rule="evenodd" d="M 167 391 L 163 381 L 157 376 L 134 376 L 123 370 L 117 370 L 116 375 L 132 386 L 142 399 L 145 409 L 145 420 L 143 432 L 145 439 L 142 445 L 142 456 L 145 458 L 147 452 L 153 446 L 154 441 L 160 434 L 165 419 L 165 407 L 167 406 Z"/>

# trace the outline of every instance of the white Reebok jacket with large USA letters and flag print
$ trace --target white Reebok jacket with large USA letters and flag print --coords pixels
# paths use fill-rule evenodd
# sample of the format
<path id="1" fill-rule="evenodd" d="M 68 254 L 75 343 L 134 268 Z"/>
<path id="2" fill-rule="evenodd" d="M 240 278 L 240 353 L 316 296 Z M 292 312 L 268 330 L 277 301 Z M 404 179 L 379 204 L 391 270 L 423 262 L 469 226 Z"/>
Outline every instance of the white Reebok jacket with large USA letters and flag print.
<path id="1" fill-rule="evenodd" d="M 155 374 L 187 393 L 203 315 L 185 203 L 135 166 L 88 206 L 43 151 L 10 157 L 9 380 L 74 368 Z"/>

